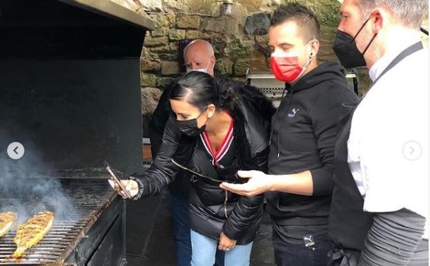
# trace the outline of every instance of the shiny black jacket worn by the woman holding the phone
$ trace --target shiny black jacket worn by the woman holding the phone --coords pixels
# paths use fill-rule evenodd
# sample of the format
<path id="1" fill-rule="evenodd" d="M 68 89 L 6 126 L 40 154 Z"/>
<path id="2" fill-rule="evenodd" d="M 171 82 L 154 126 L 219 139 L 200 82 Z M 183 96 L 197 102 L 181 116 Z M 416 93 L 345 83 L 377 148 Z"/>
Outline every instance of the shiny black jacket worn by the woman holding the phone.
<path id="1" fill-rule="evenodd" d="M 240 182 L 235 176 L 240 169 L 267 171 L 270 121 L 275 108 L 257 88 L 235 82 L 235 91 L 239 95 L 238 103 L 233 110 L 228 110 L 235 120 L 235 160 L 231 165 L 215 175 L 213 169 L 202 168 L 204 155 L 196 149 L 199 139 L 183 135 L 172 115 L 153 165 L 136 175 L 139 183 L 136 198 L 159 193 L 174 180 L 179 169 L 192 171 L 188 199 L 190 228 L 216 240 L 223 231 L 228 238 L 237 240 L 238 245 L 244 245 L 256 236 L 264 196 L 238 196 L 220 189 L 219 184 L 222 180 Z"/>

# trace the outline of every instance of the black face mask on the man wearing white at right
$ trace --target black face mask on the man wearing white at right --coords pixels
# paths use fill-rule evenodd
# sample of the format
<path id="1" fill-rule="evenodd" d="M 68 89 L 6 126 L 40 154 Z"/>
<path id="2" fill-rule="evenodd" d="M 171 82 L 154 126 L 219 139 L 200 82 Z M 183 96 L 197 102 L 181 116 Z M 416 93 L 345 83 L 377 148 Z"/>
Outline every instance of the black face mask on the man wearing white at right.
<path id="1" fill-rule="evenodd" d="M 371 19 L 372 15 L 369 17 Z M 367 45 L 366 49 L 364 49 L 364 52 L 361 53 L 360 50 L 357 48 L 357 44 L 355 43 L 355 38 L 357 38 L 358 34 L 362 31 L 364 26 L 366 26 L 367 19 L 364 21 L 363 25 L 361 26 L 360 30 L 358 30 L 355 37 L 352 37 L 346 32 L 343 32 L 341 30 L 338 30 L 338 33 L 336 34 L 335 44 L 333 45 L 333 51 L 335 52 L 336 56 L 338 57 L 340 64 L 344 66 L 344 68 L 355 68 L 358 66 L 366 66 L 366 61 L 364 60 L 364 54 L 366 53 L 369 46 L 372 44 L 373 40 L 375 39 L 375 35 L 373 35 L 371 41 Z"/>

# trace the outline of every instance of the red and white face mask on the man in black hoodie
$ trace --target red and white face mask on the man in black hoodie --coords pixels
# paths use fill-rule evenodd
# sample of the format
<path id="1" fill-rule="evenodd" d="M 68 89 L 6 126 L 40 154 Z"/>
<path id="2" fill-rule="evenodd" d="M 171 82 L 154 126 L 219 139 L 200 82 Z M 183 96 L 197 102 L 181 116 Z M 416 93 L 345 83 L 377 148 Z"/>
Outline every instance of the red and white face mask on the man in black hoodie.
<path id="1" fill-rule="evenodd" d="M 273 53 L 271 55 L 271 69 L 277 79 L 282 82 L 292 83 L 304 73 L 304 70 L 306 70 L 307 66 L 309 66 L 309 63 L 311 62 L 311 59 L 312 57 L 302 67 L 299 66 L 299 57 L 297 55 L 291 55 L 291 53 L 284 55 Z"/>

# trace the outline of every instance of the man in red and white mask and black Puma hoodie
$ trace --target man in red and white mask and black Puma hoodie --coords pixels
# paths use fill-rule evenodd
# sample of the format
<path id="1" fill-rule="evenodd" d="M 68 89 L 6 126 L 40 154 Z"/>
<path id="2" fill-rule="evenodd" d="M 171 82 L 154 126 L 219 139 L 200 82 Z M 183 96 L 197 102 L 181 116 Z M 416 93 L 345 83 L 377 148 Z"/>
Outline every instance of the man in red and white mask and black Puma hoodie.
<path id="1" fill-rule="evenodd" d="M 225 184 L 242 195 L 266 192 L 278 266 L 325 266 L 337 122 L 344 102 L 357 102 L 338 63 L 317 64 L 320 26 L 299 3 L 275 10 L 269 30 L 271 68 L 286 82 L 272 118 L 268 174 L 239 171 L 246 184 Z"/>

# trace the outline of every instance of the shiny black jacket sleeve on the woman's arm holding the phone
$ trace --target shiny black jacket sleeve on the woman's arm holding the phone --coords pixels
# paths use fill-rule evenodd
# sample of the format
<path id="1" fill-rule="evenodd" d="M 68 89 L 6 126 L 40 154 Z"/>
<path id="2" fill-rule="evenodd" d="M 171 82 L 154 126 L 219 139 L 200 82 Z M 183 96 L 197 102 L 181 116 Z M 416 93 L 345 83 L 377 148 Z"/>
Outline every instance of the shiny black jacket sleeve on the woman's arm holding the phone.
<path id="1" fill-rule="evenodd" d="M 139 184 L 139 193 L 134 198 L 135 200 L 159 193 L 175 179 L 175 174 L 179 168 L 173 164 L 172 158 L 177 151 L 186 150 L 180 148 L 181 140 L 182 133 L 177 128 L 175 117 L 170 116 L 166 123 L 166 129 L 164 129 L 162 144 L 153 164 L 144 173 L 137 174 L 132 178 Z"/>

